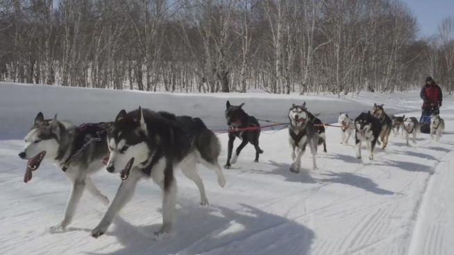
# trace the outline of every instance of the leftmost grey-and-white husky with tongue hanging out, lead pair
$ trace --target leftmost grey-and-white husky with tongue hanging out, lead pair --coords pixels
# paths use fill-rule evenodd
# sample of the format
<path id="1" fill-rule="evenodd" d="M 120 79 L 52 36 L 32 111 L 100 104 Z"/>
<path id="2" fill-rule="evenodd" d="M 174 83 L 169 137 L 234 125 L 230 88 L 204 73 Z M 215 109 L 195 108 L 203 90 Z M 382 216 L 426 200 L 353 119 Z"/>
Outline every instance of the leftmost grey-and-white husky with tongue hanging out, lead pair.
<path id="1" fill-rule="evenodd" d="M 44 119 L 40 112 L 35 117 L 31 130 L 26 134 L 21 159 L 28 159 L 24 182 L 30 182 L 33 171 L 41 162 L 54 161 L 72 184 L 71 195 L 65 209 L 65 217 L 53 231 L 62 231 L 72 222 L 74 213 L 85 188 L 106 206 L 108 197 L 103 195 L 90 178 L 97 170 L 104 168 L 103 158 L 108 155 L 106 133 L 111 123 L 87 123 L 76 126 L 66 121 Z"/>

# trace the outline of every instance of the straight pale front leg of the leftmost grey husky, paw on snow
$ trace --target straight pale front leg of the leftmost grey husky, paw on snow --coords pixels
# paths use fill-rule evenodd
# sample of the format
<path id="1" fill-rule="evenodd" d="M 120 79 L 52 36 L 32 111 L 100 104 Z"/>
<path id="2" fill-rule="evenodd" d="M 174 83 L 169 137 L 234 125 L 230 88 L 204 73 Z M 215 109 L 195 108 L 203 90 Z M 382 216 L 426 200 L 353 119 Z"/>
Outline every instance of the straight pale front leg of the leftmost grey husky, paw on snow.
<path id="1" fill-rule="evenodd" d="M 66 227 L 71 224 L 76 212 L 77 204 L 81 200 L 83 190 L 85 188 L 85 179 L 75 179 L 72 183 L 71 195 L 65 209 L 65 218 L 62 220 L 60 225 L 51 227 L 53 231 L 65 230 Z"/>

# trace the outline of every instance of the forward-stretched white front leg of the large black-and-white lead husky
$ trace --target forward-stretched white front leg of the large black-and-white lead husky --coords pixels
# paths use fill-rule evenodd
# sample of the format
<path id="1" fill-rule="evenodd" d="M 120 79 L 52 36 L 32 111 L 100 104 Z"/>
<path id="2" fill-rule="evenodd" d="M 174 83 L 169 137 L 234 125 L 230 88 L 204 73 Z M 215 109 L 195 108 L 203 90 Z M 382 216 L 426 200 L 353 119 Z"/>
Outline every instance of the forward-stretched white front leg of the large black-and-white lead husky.
<path id="1" fill-rule="evenodd" d="M 104 215 L 101 222 L 92 230 L 92 236 L 98 238 L 106 233 L 108 227 L 112 223 L 112 220 L 117 216 L 117 213 L 123 208 L 123 206 L 131 200 L 131 197 L 134 195 L 135 186 L 141 177 L 142 173 L 140 170 L 133 169 L 131 170 L 131 175 L 128 179 L 121 182 L 117 194 L 115 194 L 112 204 L 110 204 L 106 214 Z"/>

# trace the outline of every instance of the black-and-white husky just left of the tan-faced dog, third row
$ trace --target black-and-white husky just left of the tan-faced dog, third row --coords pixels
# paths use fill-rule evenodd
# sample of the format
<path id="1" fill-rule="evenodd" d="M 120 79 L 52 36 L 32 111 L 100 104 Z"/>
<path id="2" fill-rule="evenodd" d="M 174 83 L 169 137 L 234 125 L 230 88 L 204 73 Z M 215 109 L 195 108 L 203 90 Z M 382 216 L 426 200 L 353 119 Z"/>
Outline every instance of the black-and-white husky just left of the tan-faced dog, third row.
<path id="1" fill-rule="evenodd" d="M 369 150 L 369 159 L 373 159 L 373 151 L 375 150 L 378 137 L 382 132 L 382 125 L 378 118 L 373 116 L 371 112 L 363 112 L 355 118 L 355 143 L 356 157 L 361 159 L 361 146 L 365 141 L 367 150 Z"/>

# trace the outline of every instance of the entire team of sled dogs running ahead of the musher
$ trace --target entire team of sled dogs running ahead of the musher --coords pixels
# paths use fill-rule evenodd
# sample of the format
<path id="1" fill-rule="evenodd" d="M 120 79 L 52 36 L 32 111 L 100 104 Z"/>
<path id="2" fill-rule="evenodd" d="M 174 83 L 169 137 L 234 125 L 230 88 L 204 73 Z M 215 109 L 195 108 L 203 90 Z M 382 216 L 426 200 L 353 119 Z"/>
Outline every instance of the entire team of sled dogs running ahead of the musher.
<path id="1" fill-rule="evenodd" d="M 255 162 L 263 150 L 259 146 L 260 123 L 244 112 L 241 105 L 226 103 L 228 132 L 228 155 L 224 168 L 230 168 L 248 143 L 255 148 Z M 325 125 L 317 114 L 308 111 L 305 103 L 293 104 L 289 109 L 289 144 L 292 148 L 290 170 L 299 173 L 301 157 L 309 146 L 312 154 L 312 168 L 317 169 L 317 148 L 323 144 L 326 152 Z M 437 114 L 430 122 L 430 136 L 437 141 L 444 131 L 444 120 Z M 361 158 L 362 143 L 366 143 L 369 159 L 373 159 L 376 143 L 387 147 L 389 134 L 399 130 L 408 140 L 416 142 L 420 124 L 416 118 L 388 116 L 383 105 L 373 105 L 371 112 L 363 112 L 355 120 L 348 114 L 339 115 L 342 143 L 348 144 L 355 131 L 356 156 Z M 233 152 L 236 138 L 241 143 Z M 19 153 L 27 159 L 24 182 L 30 182 L 33 171 L 39 168 L 42 160 L 53 160 L 67 175 L 72 190 L 60 224 L 53 231 L 64 231 L 71 224 L 83 191 L 86 189 L 108 210 L 99 225 L 92 230 L 98 238 L 106 233 L 121 208 L 131 200 L 137 182 L 152 179 L 162 191 L 162 227 L 156 235 L 169 233 L 176 218 L 176 180 L 174 169 L 181 168 L 183 174 L 199 188 L 201 204 L 208 204 L 203 181 L 196 170 L 202 164 L 217 175 L 219 186 L 224 187 L 226 179 L 218 158 L 221 146 L 216 134 L 209 130 L 200 118 L 176 116 L 168 112 L 153 112 L 149 109 L 135 109 L 126 112 L 122 109 L 110 123 L 88 123 L 80 126 L 67 121 L 59 121 L 57 116 L 45 119 L 40 112 L 35 117 L 31 130 L 24 139 L 25 146 Z M 233 153 L 233 155 L 232 155 Z M 106 168 L 110 173 L 120 173 L 121 184 L 112 202 L 94 185 L 91 175 Z"/>

